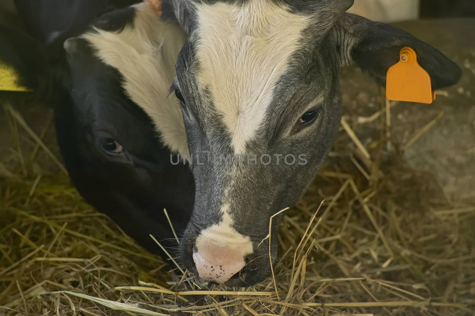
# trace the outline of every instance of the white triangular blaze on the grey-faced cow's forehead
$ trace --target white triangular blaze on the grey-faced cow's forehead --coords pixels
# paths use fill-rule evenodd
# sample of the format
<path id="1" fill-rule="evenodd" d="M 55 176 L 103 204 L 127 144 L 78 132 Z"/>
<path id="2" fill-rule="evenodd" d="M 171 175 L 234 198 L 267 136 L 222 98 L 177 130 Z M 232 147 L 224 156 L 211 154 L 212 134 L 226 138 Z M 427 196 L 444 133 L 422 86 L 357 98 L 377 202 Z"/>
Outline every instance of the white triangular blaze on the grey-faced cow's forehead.
<path id="1" fill-rule="evenodd" d="M 198 4 L 197 16 L 199 83 L 209 88 L 235 153 L 244 153 L 310 19 L 270 0 Z"/>

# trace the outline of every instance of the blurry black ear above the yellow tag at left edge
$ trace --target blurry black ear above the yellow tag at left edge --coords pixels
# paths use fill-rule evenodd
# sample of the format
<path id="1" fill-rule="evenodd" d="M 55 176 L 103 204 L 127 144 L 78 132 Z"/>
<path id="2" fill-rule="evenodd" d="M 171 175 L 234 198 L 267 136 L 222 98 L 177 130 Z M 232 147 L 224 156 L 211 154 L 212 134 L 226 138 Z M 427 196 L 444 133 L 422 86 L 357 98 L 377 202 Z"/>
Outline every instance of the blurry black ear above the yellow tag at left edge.
<path id="1" fill-rule="evenodd" d="M 0 67 L 13 69 L 13 85 L 44 91 L 48 65 L 44 48 L 24 32 L 0 24 Z"/>

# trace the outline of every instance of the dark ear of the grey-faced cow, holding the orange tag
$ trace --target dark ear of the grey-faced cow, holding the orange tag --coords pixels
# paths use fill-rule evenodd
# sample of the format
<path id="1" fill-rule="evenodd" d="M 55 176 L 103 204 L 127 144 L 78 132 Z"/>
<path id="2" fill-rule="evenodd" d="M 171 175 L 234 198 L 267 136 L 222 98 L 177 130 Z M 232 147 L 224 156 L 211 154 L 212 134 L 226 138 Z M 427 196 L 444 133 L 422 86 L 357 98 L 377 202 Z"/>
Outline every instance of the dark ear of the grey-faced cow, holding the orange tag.
<path id="1" fill-rule="evenodd" d="M 399 28 L 358 15 L 343 14 L 333 26 L 332 37 L 340 65 L 356 64 L 381 85 L 386 84 L 388 69 L 398 63 L 399 52 L 406 46 L 416 51 L 432 89 L 456 84 L 462 75 L 460 67 L 434 47 Z"/>

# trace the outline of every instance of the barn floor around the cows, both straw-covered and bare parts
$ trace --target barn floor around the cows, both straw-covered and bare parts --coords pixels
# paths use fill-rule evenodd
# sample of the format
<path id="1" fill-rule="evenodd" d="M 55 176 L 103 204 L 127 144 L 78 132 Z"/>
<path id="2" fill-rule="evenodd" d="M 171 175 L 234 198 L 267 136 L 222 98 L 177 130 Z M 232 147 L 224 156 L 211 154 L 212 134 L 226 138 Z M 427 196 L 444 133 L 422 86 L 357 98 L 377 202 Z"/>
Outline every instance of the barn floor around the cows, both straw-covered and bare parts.
<path id="1" fill-rule="evenodd" d="M 254 288 L 265 292 L 259 299 L 246 293 L 230 296 L 227 302 L 235 298 L 239 303 L 233 305 L 210 296 L 204 303 L 208 307 L 177 315 L 475 315 L 475 19 L 404 22 L 399 27 L 462 66 L 461 82 L 439 92 L 430 105 L 381 104 L 378 86 L 357 69 L 342 69 L 344 119 L 372 162 L 361 159 L 342 129 L 321 175 L 284 220 L 282 232 L 288 235 L 279 241 L 283 252 L 292 254 L 326 199 L 317 219 L 330 207 L 340 213 L 328 215 L 315 231 L 319 251 L 314 254 L 307 244 L 311 251 L 297 256 L 302 258 L 298 267 L 283 254 L 276 284 L 269 278 Z M 386 107 L 390 115 L 381 111 Z M 85 205 L 21 120 L 4 109 L 0 315 L 168 315 L 187 306 L 163 290 L 114 292 L 115 286 L 136 286 L 139 280 L 156 291 L 170 288 L 169 268 Z M 59 157 L 52 111 L 31 104 L 18 110 Z M 365 180 L 379 175 L 370 164 L 382 174 L 377 189 Z M 343 190 L 353 184 L 356 191 Z M 275 285 L 278 298 L 269 294 Z M 133 310 L 125 304 L 129 300 L 144 303 L 134 307 L 148 312 Z M 223 307 L 214 306 L 218 302 Z M 326 305 L 312 306 L 322 302 Z"/>

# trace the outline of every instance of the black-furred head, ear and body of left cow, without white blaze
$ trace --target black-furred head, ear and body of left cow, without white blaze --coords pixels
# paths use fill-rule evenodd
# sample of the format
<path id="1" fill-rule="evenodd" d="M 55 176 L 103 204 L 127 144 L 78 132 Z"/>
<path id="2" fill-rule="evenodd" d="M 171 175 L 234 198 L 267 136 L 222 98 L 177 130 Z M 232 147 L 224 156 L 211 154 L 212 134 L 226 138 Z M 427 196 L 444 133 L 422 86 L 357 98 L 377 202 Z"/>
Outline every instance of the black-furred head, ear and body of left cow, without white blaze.
<path id="1" fill-rule="evenodd" d="M 66 38 L 92 28 L 120 32 L 133 27 L 135 9 L 124 4 L 135 1 L 73 2 L 18 1 L 30 34 L 0 25 L 0 58 L 18 70 L 21 84 L 35 89 L 28 98 L 54 108 L 66 169 L 86 202 L 162 255 L 149 234 L 169 251 L 177 248 L 163 209 L 181 234 L 194 200 L 190 169 L 171 165 L 171 150 L 127 95 L 117 69 L 99 60 L 85 40 L 63 48 Z M 114 152 L 118 146 L 123 150 Z"/>

